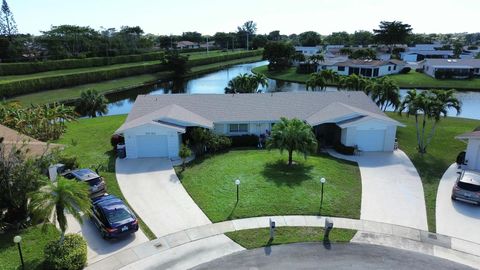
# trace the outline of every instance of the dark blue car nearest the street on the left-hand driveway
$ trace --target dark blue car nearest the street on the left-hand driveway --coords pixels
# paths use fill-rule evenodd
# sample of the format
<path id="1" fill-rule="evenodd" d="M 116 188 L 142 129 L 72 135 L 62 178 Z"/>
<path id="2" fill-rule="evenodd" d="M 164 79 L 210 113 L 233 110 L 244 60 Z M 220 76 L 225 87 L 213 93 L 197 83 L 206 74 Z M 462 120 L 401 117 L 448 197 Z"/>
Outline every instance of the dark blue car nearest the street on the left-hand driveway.
<path id="1" fill-rule="evenodd" d="M 93 200 L 92 220 L 105 239 L 118 238 L 138 231 L 138 220 L 133 211 L 113 195 Z"/>

